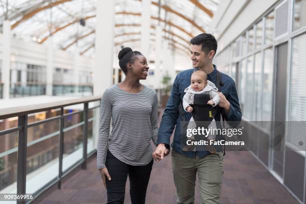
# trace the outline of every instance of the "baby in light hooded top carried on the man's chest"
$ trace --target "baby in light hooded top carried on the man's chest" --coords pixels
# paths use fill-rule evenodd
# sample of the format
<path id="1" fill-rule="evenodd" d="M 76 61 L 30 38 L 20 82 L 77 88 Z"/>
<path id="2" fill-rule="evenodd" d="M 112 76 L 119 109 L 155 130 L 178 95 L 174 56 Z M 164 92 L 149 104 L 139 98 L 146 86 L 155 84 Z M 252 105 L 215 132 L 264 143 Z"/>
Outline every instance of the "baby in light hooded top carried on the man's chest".
<path id="1" fill-rule="evenodd" d="M 191 84 L 185 88 L 185 95 L 182 100 L 182 105 L 185 111 L 192 112 L 193 108 L 190 104 L 193 104 L 194 94 L 208 94 L 210 96 L 210 100 L 208 100 L 207 104 L 212 105 L 213 107 L 219 103 L 220 97 L 216 92 L 218 89 L 211 81 L 207 80 L 207 74 L 202 70 L 194 71 L 191 75 Z M 205 113 L 203 113 L 205 114 Z M 213 119 L 214 120 L 214 119 Z M 212 122 L 212 127 L 215 127 L 215 122 Z M 209 125 L 210 127 L 211 125 Z M 190 118 L 190 122 L 188 123 L 188 129 L 196 128 L 196 124 L 194 122 L 193 116 Z M 208 140 L 214 140 L 214 135 L 208 135 Z M 189 139 L 194 140 L 194 135 L 192 135 Z M 184 147 L 185 148 L 185 147 Z M 184 150 L 184 149 L 183 149 Z M 186 149 L 190 150 L 190 149 Z"/>

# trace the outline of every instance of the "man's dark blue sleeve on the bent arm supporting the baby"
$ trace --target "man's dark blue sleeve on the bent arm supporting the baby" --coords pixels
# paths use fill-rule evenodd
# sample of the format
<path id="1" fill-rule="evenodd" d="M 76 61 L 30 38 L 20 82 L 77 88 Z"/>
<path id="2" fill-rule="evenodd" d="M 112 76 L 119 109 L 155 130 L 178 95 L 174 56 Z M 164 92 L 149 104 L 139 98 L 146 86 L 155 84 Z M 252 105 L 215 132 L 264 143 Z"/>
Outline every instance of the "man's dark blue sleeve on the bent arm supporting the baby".
<path id="1" fill-rule="evenodd" d="M 230 103 L 230 107 L 229 107 L 228 113 L 226 113 L 226 111 L 223 109 L 225 120 L 230 126 L 236 127 L 241 121 L 241 109 L 240 109 L 238 94 L 237 94 L 236 86 L 234 82 L 232 82 L 232 85 L 229 88 L 229 93 L 226 99 Z"/>

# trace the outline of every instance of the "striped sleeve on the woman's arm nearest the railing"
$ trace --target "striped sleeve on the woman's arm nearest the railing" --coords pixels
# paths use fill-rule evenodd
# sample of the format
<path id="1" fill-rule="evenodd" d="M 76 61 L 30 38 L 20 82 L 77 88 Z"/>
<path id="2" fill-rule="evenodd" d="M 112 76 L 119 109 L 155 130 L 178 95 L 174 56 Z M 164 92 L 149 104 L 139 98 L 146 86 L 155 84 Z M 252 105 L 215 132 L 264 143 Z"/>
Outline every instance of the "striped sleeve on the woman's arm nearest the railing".
<path id="1" fill-rule="evenodd" d="M 99 134 L 97 139 L 97 168 L 104 168 L 105 159 L 108 146 L 109 137 L 109 125 L 111 118 L 111 100 L 109 97 L 109 92 L 106 89 L 102 95 L 100 103 L 100 120 L 99 120 Z"/>

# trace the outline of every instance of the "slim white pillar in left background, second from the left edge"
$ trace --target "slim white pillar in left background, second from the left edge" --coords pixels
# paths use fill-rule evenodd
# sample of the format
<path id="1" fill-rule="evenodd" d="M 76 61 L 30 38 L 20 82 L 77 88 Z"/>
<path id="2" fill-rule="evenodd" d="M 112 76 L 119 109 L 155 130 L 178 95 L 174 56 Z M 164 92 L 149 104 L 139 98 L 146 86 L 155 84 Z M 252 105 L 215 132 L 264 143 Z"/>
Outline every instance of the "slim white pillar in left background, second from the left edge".
<path id="1" fill-rule="evenodd" d="M 52 95 L 53 84 L 53 37 L 52 35 L 47 39 L 47 65 L 46 65 L 46 95 Z"/>

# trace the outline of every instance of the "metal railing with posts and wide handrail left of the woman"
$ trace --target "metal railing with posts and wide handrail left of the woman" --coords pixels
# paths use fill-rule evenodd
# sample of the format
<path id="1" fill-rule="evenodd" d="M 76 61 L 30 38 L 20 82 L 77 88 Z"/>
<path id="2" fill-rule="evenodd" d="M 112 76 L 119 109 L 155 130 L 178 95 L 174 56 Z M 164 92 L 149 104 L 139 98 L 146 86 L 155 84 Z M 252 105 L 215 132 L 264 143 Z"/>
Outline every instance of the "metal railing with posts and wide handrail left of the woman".
<path id="1" fill-rule="evenodd" d="M 0 135 L 7 134 L 10 132 L 18 131 L 18 146 L 6 151 L 5 153 L 9 153 L 10 151 L 17 151 L 17 193 L 18 194 L 24 194 L 25 187 L 26 187 L 26 152 L 27 152 L 27 146 L 30 146 L 34 143 L 37 143 L 41 140 L 46 139 L 47 137 L 53 136 L 52 134 L 46 135 L 42 138 L 36 139 L 31 142 L 27 142 L 27 128 L 42 124 L 45 122 L 49 122 L 52 120 L 59 119 L 59 131 L 56 131 L 56 134 L 59 133 L 59 155 L 58 155 L 58 177 L 53 182 L 57 182 L 57 187 L 61 187 L 61 180 L 62 177 L 66 175 L 66 172 L 63 172 L 62 170 L 62 160 L 63 160 L 63 133 L 64 131 L 67 131 L 70 128 L 74 128 L 79 125 L 84 125 L 83 128 L 83 156 L 80 161 L 78 161 L 78 164 L 81 164 L 81 167 L 83 169 L 86 169 L 86 160 L 88 157 L 87 154 L 87 137 L 88 137 L 88 121 L 92 121 L 93 118 L 88 118 L 88 111 L 93 108 L 99 107 L 99 105 L 96 105 L 94 107 L 88 108 L 88 103 L 92 101 L 98 101 L 100 100 L 101 96 L 88 96 L 88 97 L 82 97 L 77 99 L 70 99 L 70 100 L 62 100 L 62 101 L 56 101 L 56 102 L 49 102 L 49 103 L 42 103 L 42 104 L 35 104 L 35 105 L 26 105 L 22 107 L 10 107 L 10 108 L 2 108 L 0 109 L 0 119 L 6 119 L 9 117 L 15 117 L 18 116 L 18 125 L 17 127 L 13 127 L 10 129 L 2 130 L 0 131 Z M 74 104 L 80 104 L 83 103 L 84 108 L 83 110 L 75 111 L 72 113 L 64 114 L 63 108 L 65 106 L 74 105 Z M 30 113 L 35 112 L 41 112 L 46 111 L 50 109 L 56 109 L 60 108 L 60 115 L 54 116 L 51 118 L 47 118 L 40 121 L 35 121 L 28 123 L 27 117 Z M 83 121 L 77 123 L 76 125 L 72 125 L 73 127 L 66 127 L 64 128 L 64 117 L 67 115 L 72 115 L 76 113 L 83 112 Z M 74 166 L 76 167 L 76 166 Z M 73 168 L 73 167 L 72 167 Z M 41 193 L 41 191 L 47 189 L 48 185 L 45 186 L 45 188 L 40 189 L 38 194 Z M 35 198 L 35 197 L 34 197 Z M 17 200 L 17 203 L 25 203 L 25 201 Z"/>

